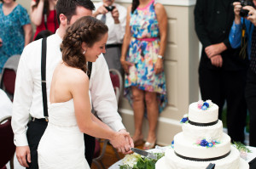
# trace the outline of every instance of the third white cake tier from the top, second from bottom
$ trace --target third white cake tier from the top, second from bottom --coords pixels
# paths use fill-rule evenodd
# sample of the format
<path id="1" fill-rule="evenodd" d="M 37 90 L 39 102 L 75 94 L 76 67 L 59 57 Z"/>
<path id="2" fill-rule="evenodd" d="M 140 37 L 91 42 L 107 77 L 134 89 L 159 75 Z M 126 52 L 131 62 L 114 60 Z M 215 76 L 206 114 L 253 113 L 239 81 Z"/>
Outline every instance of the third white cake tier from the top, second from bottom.
<path id="1" fill-rule="evenodd" d="M 174 136 L 174 150 L 178 155 L 188 158 L 215 158 L 230 152 L 230 136 L 223 133 L 220 144 L 215 144 L 213 147 L 202 147 L 185 138 L 183 132 L 179 132 Z"/>

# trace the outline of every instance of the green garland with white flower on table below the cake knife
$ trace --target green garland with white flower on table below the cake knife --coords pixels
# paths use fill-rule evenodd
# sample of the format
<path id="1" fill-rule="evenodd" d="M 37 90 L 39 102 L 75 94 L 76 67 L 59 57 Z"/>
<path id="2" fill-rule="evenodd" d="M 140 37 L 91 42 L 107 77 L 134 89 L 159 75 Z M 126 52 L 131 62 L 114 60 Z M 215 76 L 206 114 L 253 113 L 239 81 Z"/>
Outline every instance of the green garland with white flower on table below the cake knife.
<path id="1" fill-rule="evenodd" d="M 138 155 L 137 153 L 133 153 L 131 155 L 125 155 L 123 160 L 124 165 L 120 166 L 120 169 L 154 169 L 155 163 L 161 157 L 165 155 L 165 153 L 154 153 L 157 155 L 157 160 L 149 159 L 142 155 Z"/>

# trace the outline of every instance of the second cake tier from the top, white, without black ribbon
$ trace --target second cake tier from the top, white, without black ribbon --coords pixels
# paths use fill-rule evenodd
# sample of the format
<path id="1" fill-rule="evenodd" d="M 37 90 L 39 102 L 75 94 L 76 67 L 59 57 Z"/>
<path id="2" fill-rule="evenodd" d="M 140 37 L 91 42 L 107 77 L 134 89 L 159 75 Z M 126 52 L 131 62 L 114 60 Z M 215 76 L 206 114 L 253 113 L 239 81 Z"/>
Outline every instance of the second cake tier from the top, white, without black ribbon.
<path id="1" fill-rule="evenodd" d="M 188 141 L 196 142 L 203 138 L 212 138 L 212 140 L 219 141 L 222 138 L 223 125 L 222 121 L 208 127 L 198 127 L 187 123 L 183 123 L 183 135 Z"/>

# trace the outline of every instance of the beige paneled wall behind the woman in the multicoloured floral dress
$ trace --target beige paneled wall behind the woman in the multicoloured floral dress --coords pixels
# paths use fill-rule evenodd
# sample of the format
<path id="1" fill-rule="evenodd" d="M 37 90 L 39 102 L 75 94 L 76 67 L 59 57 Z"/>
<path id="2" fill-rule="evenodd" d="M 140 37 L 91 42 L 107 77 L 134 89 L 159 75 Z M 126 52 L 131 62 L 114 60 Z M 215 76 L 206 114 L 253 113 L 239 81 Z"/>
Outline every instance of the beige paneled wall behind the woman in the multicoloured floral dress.
<path id="1" fill-rule="evenodd" d="M 99 0 L 93 0 L 98 2 Z M 115 0 L 126 7 L 131 0 Z M 30 0 L 17 0 L 29 11 Z M 173 136 L 181 132 L 180 119 L 188 113 L 189 103 L 199 98 L 198 63 L 199 42 L 195 35 L 195 0 L 158 0 L 163 3 L 168 15 L 168 42 L 165 54 L 166 86 L 168 105 L 160 114 L 157 143 L 171 144 Z M 121 99 L 119 113 L 125 127 L 134 132 L 133 112 L 126 99 Z M 144 138 L 148 121 L 144 121 Z"/>

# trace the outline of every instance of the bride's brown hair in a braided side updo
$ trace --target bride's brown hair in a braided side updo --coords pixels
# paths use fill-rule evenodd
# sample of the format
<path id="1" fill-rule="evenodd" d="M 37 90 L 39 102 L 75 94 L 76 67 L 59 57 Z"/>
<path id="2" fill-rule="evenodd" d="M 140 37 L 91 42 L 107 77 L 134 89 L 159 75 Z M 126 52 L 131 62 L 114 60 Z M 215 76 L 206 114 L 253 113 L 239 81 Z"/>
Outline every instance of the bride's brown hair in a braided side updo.
<path id="1" fill-rule="evenodd" d="M 79 68 L 86 72 L 86 59 L 82 49 L 82 42 L 87 47 L 92 47 L 108 32 L 108 26 L 101 20 L 91 16 L 84 16 L 67 28 L 66 35 L 61 43 L 63 62 L 71 67 Z"/>

